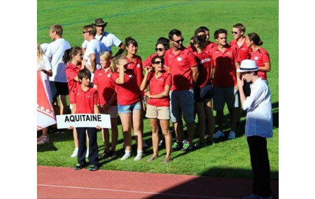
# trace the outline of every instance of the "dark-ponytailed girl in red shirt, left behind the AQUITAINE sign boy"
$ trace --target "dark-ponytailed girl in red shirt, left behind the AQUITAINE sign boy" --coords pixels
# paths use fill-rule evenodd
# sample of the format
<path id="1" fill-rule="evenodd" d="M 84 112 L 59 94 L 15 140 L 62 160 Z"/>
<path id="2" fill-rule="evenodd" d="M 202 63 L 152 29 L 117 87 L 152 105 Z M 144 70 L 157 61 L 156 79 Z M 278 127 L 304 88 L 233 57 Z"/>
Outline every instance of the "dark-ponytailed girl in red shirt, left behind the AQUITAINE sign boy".
<path id="1" fill-rule="evenodd" d="M 68 80 L 68 89 L 69 89 L 69 103 L 71 114 L 73 114 L 73 100 L 74 100 L 74 91 L 80 86 L 79 78 L 77 74 L 79 70 L 84 69 L 84 66 L 81 65 L 82 62 L 82 51 L 80 47 L 71 47 L 64 51 L 64 56 L 62 57 L 62 62 L 66 64 L 66 79 Z M 77 129 L 73 129 L 73 140 L 75 142 L 75 150 L 71 157 L 77 157 L 77 152 L 79 150 L 79 140 L 77 140 Z M 88 156 L 88 152 L 87 152 Z"/>

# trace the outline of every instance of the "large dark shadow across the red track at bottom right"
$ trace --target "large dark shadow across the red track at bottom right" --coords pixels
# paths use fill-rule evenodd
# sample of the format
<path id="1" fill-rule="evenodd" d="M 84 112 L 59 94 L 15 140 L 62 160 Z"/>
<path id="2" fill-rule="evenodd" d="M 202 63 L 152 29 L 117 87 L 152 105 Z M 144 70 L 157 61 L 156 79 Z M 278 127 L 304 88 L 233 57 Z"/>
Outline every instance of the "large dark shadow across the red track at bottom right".
<path id="1" fill-rule="evenodd" d="M 234 174 L 242 175 L 244 178 L 233 178 Z M 275 176 L 279 173 L 271 172 L 271 175 Z M 242 198 L 252 194 L 253 180 L 251 178 L 251 170 L 212 168 L 206 170 L 201 176 L 193 176 L 189 181 L 184 181 L 148 198 Z M 279 181 L 271 181 L 270 186 L 274 198 L 279 198 Z"/>

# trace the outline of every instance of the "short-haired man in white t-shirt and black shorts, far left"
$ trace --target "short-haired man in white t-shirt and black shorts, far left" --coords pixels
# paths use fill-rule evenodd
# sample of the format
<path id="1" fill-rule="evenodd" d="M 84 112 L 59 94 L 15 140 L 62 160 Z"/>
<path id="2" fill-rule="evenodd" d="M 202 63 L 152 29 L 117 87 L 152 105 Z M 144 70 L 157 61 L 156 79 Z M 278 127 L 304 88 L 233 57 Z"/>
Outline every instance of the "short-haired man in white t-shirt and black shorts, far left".
<path id="1" fill-rule="evenodd" d="M 53 105 L 57 106 L 57 96 L 60 102 L 60 115 L 66 114 L 66 95 L 68 95 L 68 85 L 66 80 L 65 65 L 62 57 L 66 49 L 70 49 L 70 44 L 62 38 L 63 29 L 59 24 L 54 24 L 49 29 L 49 36 L 53 42 L 49 43 L 45 55 L 51 61 L 53 76 L 49 79 Z"/>

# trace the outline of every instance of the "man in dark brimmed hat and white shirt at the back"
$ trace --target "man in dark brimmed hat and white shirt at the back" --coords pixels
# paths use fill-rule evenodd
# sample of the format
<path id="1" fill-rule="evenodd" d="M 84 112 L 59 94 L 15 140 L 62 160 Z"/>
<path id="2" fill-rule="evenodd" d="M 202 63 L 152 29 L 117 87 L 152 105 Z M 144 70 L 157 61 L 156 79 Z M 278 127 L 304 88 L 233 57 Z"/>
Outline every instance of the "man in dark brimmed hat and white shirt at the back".
<path id="1" fill-rule="evenodd" d="M 119 40 L 114 34 L 111 34 L 104 30 L 108 23 L 104 22 L 103 18 L 95 18 L 95 21 L 94 23 L 92 23 L 92 25 L 95 26 L 97 31 L 95 38 L 103 42 L 103 44 L 108 47 L 109 51 L 112 51 L 112 47 L 119 47 L 115 56 L 121 55 L 123 51 L 125 51 L 125 44 L 121 42 L 121 40 Z M 83 52 L 86 51 L 87 45 L 88 41 L 84 40 L 81 47 Z"/>

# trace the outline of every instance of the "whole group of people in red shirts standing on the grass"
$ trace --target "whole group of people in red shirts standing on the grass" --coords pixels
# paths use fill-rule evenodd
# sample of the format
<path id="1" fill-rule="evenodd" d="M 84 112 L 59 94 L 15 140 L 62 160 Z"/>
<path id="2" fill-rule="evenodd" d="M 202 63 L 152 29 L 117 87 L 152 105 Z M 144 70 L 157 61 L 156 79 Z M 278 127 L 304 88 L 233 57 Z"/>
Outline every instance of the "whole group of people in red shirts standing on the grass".
<path id="1" fill-rule="evenodd" d="M 157 40 L 156 53 L 143 62 L 142 58 L 136 54 L 138 51 L 136 40 L 129 37 L 125 39 L 123 45 L 127 51 L 125 55 L 113 57 L 111 51 L 103 51 L 99 55 L 101 67 L 95 68 L 94 71 L 86 69 L 86 66 L 82 64 L 81 47 L 71 47 L 65 51 L 63 59 L 66 64 L 71 113 L 110 114 L 112 145 L 110 146 L 108 129 L 102 129 L 105 143 L 102 158 L 117 157 L 117 115 L 123 127 L 125 155 L 121 157 L 122 161 L 131 157 L 132 130 L 134 130 L 137 143 L 134 161 L 142 159 L 142 144 L 144 144 L 142 115 L 144 112 L 151 124 L 153 144 L 153 155 L 147 161 L 153 161 L 158 157 L 158 132 L 160 130 L 166 144 L 166 157 L 163 163 L 171 161 L 171 151 L 188 152 L 194 148 L 211 145 L 214 139 L 224 137 L 225 103 L 229 109 L 231 124 L 228 139 L 234 139 L 236 122 L 240 119 L 236 69 L 240 68 L 240 62 L 243 59 L 253 59 L 260 68 L 258 75 L 264 81 L 267 79 L 266 72 L 270 71 L 269 55 L 261 47 L 260 37 L 256 33 L 245 36 L 245 30 L 244 25 L 240 23 L 234 25 L 232 28 L 234 40 L 228 44 L 226 29 L 214 31 L 216 42 L 211 42 L 210 30 L 207 27 L 199 27 L 194 32 L 188 47 L 184 47 L 181 31 L 173 29 L 169 32 L 168 38 L 162 37 Z M 81 75 L 81 79 L 80 72 L 85 74 Z M 88 75 L 89 72 L 94 73 L 94 77 L 91 78 Z M 92 86 L 83 87 L 84 82 L 87 81 L 84 79 L 88 78 L 90 78 L 88 83 Z M 79 92 L 92 96 L 90 103 L 80 103 L 77 97 Z M 214 133 L 212 107 L 216 111 L 216 124 L 218 124 L 216 133 Z M 82 109 L 85 111 L 80 111 Z M 198 116 L 199 141 L 193 144 L 195 113 Z M 175 142 L 172 142 L 170 119 L 175 130 Z M 184 138 L 182 119 L 187 127 L 186 138 Z M 86 131 L 88 137 L 85 137 Z M 94 143 L 89 144 L 88 147 L 92 155 L 88 157 L 89 159 L 91 157 L 93 165 L 97 166 L 96 138 L 91 135 L 93 133 L 89 133 L 90 131 L 92 132 L 89 128 L 73 129 L 75 147 L 85 145 L 86 138 L 92 137 L 92 140 L 88 140 Z M 81 169 L 85 165 L 84 157 L 88 152 L 84 150 L 86 151 L 87 148 L 79 147 L 79 164 L 75 169 Z"/>

